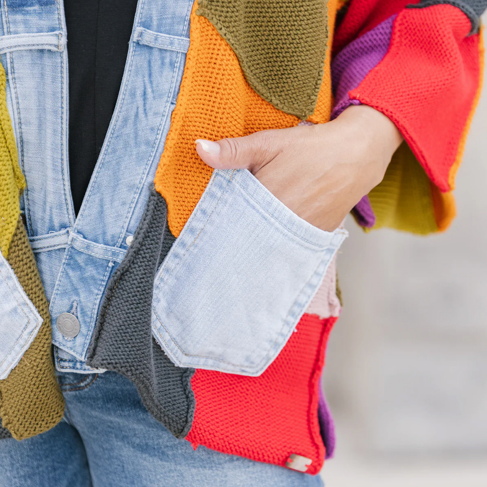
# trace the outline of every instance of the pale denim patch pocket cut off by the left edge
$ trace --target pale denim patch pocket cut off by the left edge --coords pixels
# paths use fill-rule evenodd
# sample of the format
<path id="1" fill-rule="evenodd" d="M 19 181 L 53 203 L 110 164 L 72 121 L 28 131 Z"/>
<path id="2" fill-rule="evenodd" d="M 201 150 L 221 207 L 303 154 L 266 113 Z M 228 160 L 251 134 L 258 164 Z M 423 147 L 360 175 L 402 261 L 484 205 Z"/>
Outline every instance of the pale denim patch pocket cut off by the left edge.
<path id="1" fill-rule="evenodd" d="M 36 307 L 0 253 L 0 380 L 19 363 L 41 324 Z"/>

